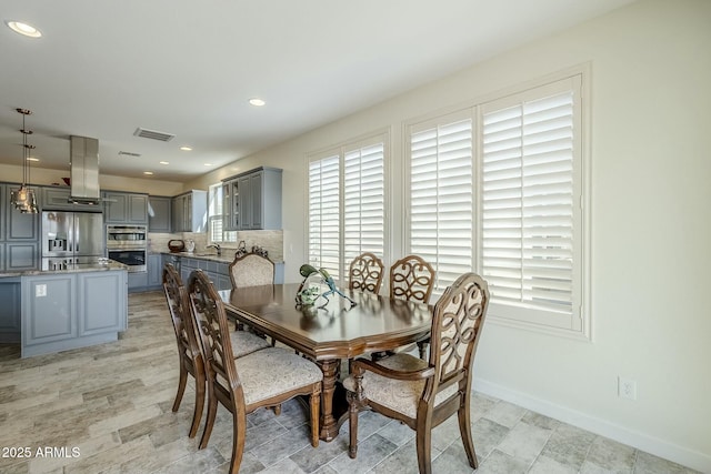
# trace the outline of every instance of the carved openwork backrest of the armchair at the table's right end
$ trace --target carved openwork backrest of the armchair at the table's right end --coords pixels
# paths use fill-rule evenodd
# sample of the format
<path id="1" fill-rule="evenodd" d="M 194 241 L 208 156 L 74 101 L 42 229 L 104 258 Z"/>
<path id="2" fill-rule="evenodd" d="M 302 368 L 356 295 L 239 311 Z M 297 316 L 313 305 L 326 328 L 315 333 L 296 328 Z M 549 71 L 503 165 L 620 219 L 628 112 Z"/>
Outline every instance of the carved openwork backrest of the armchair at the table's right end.
<path id="1" fill-rule="evenodd" d="M 471 387 L 471 365 L 488 306 L 488 283 L 475 273 L 457 279 L 434 305 L 429 363 L 437 370 L 431 381 L 438 391 L 457 382 L 464 390 Z"/>

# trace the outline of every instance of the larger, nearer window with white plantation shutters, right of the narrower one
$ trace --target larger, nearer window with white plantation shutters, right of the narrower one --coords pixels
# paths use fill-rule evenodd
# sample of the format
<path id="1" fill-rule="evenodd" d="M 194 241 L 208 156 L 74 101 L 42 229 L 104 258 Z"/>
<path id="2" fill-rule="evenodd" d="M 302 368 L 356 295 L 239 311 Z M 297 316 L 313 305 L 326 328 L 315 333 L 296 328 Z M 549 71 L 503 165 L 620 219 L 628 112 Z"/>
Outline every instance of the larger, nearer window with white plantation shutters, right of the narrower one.
<path id="1" fill-rule="evenodd" d="M 581 74 L 409 125 L 410 251 L 435 293 L 470 270 L 502 323 L 583 323 Z"/>

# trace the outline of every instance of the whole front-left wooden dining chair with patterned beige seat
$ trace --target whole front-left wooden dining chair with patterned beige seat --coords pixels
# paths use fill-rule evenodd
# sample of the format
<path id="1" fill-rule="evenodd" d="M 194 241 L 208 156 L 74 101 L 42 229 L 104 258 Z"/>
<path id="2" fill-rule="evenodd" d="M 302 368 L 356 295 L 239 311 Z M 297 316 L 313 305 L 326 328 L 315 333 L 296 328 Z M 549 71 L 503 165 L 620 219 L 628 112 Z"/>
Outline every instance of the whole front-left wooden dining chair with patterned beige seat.
<path id="1" fill-rule="evenodd" d="M 188 293 L 192 314 L 198 322 L 206 359 L 208 381 L 208 416 L 200 448 L 208 445 L 218 403 L 232 413 L 232 458 L 230 473 L 242 462 L 247 414 L 257 409 L 276 406 L 298 395 L 309 397 L 311 445 L 319 445 L 319 409 L 323 373 L 313 362 L 282 347 L 267 347 L 234 359 L 224 305 L 210 280 L 201 270 L 190 275 Z"/>

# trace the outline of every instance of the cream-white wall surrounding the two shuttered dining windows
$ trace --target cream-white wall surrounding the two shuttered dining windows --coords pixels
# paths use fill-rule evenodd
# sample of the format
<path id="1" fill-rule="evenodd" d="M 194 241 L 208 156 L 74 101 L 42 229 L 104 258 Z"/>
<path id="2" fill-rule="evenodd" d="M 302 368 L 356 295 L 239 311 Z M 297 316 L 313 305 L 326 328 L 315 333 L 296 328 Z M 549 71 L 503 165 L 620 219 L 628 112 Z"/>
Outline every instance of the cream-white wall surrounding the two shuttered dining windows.
<path id="1" fill-rule="evenodd" d="M 306 261 L 306 154 L 590 62 L 591 305 L 584 343 L 488 324 L 477 387 L 711 472 L 711 2 L 644 0 L 218 170 L 284 169 L 284 260 Z M 402 182 L 393 172 L 392 253 Z M 638 400 L 617 396 L 617 377 Z"/>

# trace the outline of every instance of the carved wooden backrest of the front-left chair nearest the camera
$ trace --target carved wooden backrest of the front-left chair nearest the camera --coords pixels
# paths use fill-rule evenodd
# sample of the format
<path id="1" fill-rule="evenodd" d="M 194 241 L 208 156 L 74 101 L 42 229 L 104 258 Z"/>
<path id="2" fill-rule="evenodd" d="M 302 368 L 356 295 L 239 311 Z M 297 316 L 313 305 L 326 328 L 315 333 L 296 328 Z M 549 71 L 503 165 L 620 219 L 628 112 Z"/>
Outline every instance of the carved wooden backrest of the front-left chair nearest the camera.
<path id="1" fill-rule="evenodd" d="M 188 294 L 202 343 L 208 380 L 217 382 L 214 389 L 221 392 L 218 396 L 229 397 L 234 404 L 243 403 L 244 394 L 234 366 L 224 305 L 202 270 L 194 270 L 190 274 Z"/>

